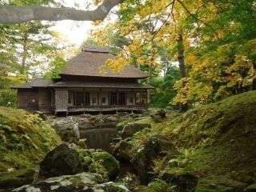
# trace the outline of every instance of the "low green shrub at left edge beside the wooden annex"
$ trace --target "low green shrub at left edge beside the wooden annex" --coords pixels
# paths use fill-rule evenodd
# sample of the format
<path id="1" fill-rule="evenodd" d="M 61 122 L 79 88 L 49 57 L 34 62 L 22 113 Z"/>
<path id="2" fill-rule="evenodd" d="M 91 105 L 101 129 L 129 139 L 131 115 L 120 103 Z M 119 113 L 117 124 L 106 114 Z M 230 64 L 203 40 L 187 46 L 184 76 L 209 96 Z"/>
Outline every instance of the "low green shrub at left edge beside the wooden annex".
<path id="1" fill-rule="evenodd" d="M 0 90 L 0 106 L 7 106 L 9 102 L 10 106 L 16 106 L 17 90 Z"/>

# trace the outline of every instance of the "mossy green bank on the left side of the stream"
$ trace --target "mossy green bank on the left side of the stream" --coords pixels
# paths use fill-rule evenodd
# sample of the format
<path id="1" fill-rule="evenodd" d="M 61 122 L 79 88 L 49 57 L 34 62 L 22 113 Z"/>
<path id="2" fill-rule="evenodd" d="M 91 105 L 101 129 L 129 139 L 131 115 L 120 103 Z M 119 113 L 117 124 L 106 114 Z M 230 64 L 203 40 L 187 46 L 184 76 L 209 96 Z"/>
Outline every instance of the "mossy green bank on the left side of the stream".
<path id="1" fill-rule="evenodd" d="M 0 107 L 0 172 L 34 168 L 60 142 L 38 115 Z"/>

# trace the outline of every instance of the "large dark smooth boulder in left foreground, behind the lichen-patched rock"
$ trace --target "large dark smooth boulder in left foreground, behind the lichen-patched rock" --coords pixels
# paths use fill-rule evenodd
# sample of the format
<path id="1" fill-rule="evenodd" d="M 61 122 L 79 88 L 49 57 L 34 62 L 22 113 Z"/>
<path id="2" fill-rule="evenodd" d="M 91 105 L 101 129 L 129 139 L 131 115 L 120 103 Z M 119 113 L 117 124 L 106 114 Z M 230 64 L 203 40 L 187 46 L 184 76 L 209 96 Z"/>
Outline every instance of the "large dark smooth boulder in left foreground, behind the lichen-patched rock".
<path id="1" fill-rule="evenodd" d="M 40 174 L 50 178 L 66 174 L 78 174 L 83 171 L 79 154 L 66 143 L 57 146 L 40 163 Z"/>

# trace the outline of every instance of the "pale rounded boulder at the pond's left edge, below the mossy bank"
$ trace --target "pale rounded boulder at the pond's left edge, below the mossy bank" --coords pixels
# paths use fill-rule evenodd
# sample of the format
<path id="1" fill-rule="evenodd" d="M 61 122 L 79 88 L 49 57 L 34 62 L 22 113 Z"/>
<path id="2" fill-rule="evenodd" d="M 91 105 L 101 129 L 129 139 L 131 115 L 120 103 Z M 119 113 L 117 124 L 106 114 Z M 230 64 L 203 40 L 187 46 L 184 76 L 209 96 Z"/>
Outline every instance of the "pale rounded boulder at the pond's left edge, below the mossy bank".
<path id="1" fill-rule="evenodd" d="M 54 130 L 62 138 L 64 142 L 78 142 L 80 138 L 78 123 L 74 121 L 74 118 L 56 118 L 52 122 Z"/>

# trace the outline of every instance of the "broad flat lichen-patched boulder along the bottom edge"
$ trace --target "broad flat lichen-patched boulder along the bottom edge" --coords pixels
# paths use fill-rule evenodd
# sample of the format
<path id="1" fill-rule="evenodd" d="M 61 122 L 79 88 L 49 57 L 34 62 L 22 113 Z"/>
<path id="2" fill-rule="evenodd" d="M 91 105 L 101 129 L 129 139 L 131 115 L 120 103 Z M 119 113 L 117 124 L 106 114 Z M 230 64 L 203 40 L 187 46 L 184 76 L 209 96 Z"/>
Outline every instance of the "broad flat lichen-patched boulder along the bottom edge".
<path id="1" fill-rule="evenodd" d="M 104 182 L 100 174 L 81 173 L 48 178 L 34 185 L 19 187 L 14 192 L 128 192 L 126 186 L 115 182 Z"/>

